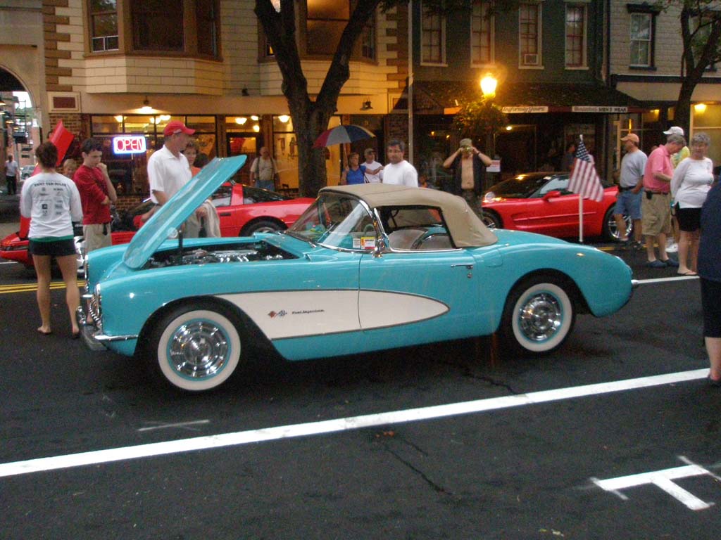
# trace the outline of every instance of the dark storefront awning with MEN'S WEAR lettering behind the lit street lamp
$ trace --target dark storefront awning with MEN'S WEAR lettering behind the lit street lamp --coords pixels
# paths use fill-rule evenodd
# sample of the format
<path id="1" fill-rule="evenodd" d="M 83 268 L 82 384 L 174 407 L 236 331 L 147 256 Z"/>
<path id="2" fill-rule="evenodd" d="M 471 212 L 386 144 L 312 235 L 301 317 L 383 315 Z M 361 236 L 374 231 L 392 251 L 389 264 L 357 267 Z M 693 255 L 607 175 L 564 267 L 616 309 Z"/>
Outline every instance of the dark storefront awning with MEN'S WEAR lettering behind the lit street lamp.
<path id="1" fill-rule="evenodd" d="M 413 110 L 420 114 L 455 114 L 463 102 L 482 96 L 478 81 L 416 81 L 413 90 Z M 645 110 L 642 102 L 623 92 L 583 83 L 503 83 L 498 85 L 493 103 L 506 114 Z"/>

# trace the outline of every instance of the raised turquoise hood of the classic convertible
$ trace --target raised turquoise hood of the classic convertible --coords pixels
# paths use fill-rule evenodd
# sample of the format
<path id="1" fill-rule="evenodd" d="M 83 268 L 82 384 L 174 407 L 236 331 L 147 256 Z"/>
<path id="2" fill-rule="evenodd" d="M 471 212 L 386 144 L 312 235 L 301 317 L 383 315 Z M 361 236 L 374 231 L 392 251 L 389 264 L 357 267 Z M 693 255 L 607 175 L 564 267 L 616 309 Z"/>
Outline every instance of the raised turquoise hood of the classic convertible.
<path id="1" fill-rule="evenodd" d="M 247 156 L 215 158 L 203 167 L 138 230 L 125 250 L 123 262 L 133 269 L 141 268 L 164 240 L 174 235 L 182 222 L 185 222 L 218 186 L 229 180 L 246 159 Z"/>

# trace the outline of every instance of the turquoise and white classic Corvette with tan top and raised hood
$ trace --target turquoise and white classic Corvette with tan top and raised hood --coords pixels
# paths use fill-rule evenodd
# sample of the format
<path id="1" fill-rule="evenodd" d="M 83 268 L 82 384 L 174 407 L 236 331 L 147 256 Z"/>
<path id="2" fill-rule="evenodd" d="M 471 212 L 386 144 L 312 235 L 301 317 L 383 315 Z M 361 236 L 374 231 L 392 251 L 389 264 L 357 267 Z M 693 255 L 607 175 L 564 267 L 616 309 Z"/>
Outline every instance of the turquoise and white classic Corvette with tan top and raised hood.
<path id="1" fill-rule="evenodd" d="M 89 345 L 200 391 L 258 341 L 304 360 L 495 333 L 508 350 L 547 353 L 577 313 L 611 315 L 631 297 L 619 258 L 490 231 L 464 199 L 431 189 L 327 187 L 283 233 L 183 239 L 182 222 L 244 159 L 213 161 L 130 244 L 89 253 Z"/>

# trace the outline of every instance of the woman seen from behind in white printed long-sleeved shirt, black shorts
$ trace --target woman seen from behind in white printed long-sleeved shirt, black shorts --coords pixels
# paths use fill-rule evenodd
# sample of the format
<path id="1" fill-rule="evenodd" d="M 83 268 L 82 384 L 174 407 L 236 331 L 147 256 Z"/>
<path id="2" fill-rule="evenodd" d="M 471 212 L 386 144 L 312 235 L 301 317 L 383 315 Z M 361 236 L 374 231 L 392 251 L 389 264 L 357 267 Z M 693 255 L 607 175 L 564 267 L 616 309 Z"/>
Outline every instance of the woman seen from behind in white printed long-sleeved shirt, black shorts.
<path id="1" fill-rule="evenodd" d="M 82 221 L 80 194 L 74 181 L 56 172 L 58 148 L 43 143 L 35 150 L 43 172 L 30 176 L 22 186 L 20 213 L 30 217 L 29 251 L 37 274 L 37 307 L 43 324 L 37 328 L 48 335 L 50 328 L 50 259 L 55 257 L 65 282 L 72 337 L 80 336 L 75 312 L 80 303 L 78 266 L 73 242 L 73 221 Z"/>

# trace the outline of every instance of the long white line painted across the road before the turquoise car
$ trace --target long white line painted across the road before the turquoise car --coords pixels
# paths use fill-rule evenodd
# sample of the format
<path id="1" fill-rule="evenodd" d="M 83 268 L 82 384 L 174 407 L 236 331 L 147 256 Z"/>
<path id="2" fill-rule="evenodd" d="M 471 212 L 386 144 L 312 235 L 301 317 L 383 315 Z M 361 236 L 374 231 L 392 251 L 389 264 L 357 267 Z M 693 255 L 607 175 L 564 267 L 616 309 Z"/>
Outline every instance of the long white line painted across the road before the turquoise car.
<path id="1" fill-rule="evenodd" d="M 688 372 L 653 375 L 651 377 L 640 377 L 639 379 L 626 379 L 614 382 L 601 382 L 599 384 L 587 384 L 585 386 L 559 388 L 557 390 L 544 390 L 542 392 L 531 392 L 521 395 L 492 397 L 486 400 L 449 403 L 448 405 L 396 410 L 388 413 L 351 416 L 320 422 L 185 438 L 179 441 L 165 441 L 162 443 L 126 446 L 125 448 L 82 452 L 80 454 L 67 454 L 65 456 L 28 459 L 22 462 L 0 464 L 0 477 L 17 476 L 30 472 L 68 469 L 71 467 L 84 467 L 87 465 L 120 462 L 127 459 L 139 459 L 151 456 L 163 456 L 180 452 L 223 448 L 226 446 L 239 446 L 262 441 L 277 441 L 283 438 L 306 437 L 324 433 L 372 428 L 375 426 L 388 426 L 389 424 L 417 422 L 419 420 L 431 420 L 434 418 L 447 418 L 470 413 L 482 413 L 489 410 L 520 407 L 521 405 L 534 405 L 536 403 L 567 400 L 574 397 L 647 388 L 660 384 L 693 381 L 703 379 L 707 376 L 708 372 L 709 370 L 706 368 L 694 369 Z"/>

